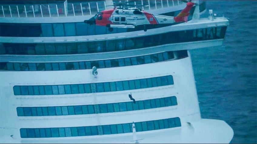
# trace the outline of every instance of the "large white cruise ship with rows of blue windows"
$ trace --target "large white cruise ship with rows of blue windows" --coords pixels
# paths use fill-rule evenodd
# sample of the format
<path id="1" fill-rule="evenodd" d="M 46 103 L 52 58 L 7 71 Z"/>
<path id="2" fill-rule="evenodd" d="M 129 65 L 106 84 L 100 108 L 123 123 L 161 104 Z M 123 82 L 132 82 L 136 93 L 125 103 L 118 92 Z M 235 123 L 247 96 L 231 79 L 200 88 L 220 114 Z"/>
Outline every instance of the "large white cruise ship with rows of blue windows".
<path id="1" fill-rule="evenodd" d="M 201 118 L 189 53 L 221 46 L 228 18 L 192 1 L 187 22 L 147 31 L 84 23 L 118 2 L 0 1 L 0 143 L 232 140 L 225 121 Z M 165 16 L 186 7 L 132 2 Z"/>

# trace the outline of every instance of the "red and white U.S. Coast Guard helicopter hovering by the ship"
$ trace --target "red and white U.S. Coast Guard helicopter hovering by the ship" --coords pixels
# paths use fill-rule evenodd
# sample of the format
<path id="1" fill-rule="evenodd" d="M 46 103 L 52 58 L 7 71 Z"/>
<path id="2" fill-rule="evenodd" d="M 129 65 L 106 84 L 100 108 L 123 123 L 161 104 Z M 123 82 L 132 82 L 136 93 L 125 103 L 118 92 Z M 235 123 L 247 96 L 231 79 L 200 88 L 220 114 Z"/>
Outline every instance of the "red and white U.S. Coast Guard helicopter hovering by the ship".
<path id="1" fill-rule="evenodd" d="M 108 27 L 109 31 L 113 28 L 135 28 L 143 25 L 144 31 L 147 31 L 148 24 L 173 24 L 187 22 L 189 11 L 195 5 L 191 1 L 186 1 L 186 7 L 175 17 L 159 14 L 150 14 L 137 8 L 137 5 L 129 5 L 128 3 L 119 2 L 113 9 L 103 10 L 95 14 L 89 20 L 85 20 L 86 24 L 96 24 Z M 135 6 L 135 7 L 129 7 Z"/>

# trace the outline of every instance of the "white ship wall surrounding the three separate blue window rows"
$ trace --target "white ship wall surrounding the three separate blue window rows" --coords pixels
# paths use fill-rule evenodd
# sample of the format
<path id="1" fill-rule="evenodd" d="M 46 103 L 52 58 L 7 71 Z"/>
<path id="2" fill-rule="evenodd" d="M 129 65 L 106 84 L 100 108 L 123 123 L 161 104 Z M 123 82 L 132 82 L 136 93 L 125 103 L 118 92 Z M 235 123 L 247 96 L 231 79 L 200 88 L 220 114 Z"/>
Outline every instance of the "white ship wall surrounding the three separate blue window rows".
<path id="1" fill-rule="evenodd" d="M 139 72 L 140 71 L 140 72 Z M 91 93 L 91 94 L 69 94 L 69 95 L 35 95 L 35 96 L 14 96 L 12 87 L 14 85 L 59 85 L 59 84 L 79 84 L 79 83 L 92 83 L 92 82 L 110 82 L 121 81 L 129 79 L 149 78 L 163 75 L 172 75 L 174 85 L 162 86 L 155 88 L 145 88 L 138 90 L 116 91 L 105 93 Z M 148 120 L 158 120 L 171 117 L 180 117 L 182 128 L 172 128 L 172 131 L 180 130 L 179 137 L 187 136 L 190 133 L 185 126 L 186 122 L 201 121 L 198 98 L 195 88 L 195 80 L 192 71 L 192 63 L 190 56 L 184 59 L 157 62 L 151 64 L 125 66 L 117 68 L 98 69 L 97 78 L 94 78 L 91 70 L 70 70 L 70 71 L 38 71 L 38 72 L 4 72 L 1 71 L 1 123 L 0 131 L 2 136 L 15 135 L 19 140 L 20 128 L 46 128 L 46 127 L 69 127 L 69 126 L 93 126 L 117 123 L 131 123 Z M 148 110 L 127 111 L 118 113 L 107 114 L 86 114 L 86 115 L 69 115 L 69 116 L 41 116 L 41 117 L 17 117 L 16 107 L 29 107 L 29 106 L 58 106 L 58 105 L 81 105 L 81 104 L 94 104 L 96 103 L 115 103 L 121 101 L 129 101 L 128 93 L 132 92 L 133 98 L 136 100 L 145 100 L 152 98 L 161 98 L 175 95 L 177 97 L 178 105 L 170 107 L 162 107 Z M 142 96 L 143 95 L 143 96 Z M 93 100 L 96 98 L 96 101 Z M 108 97 L 108 98 L 107 98 Z M 208 125 L 215 125 L 217 121 L 209 122 Z M 223 122 L 223 121 L 222 121 Z M 219 123 L 216 123 L 217 125 Z M 220 123 L 219 126 L 227 126 L 224 128 L 231 135 L 231 128 L 226 123 Z M 218 126 L 218 127 L 219 127 Z M 204 124 L 199 123 L 199 129 L 204 127 Z M 211 128 L 211 127 L 210 127 Z M 167 129 L 168 130 L 168 129 Z M 155 130 L 160 133 L 167 133 L 167 130 Z M 219 136 L 218 130 L 207 130 L 208 133 Z M 150 135 L 154 131 L 140 132 L 142 135 Z M 145 133 L 145 134 L 144 134 Z M 208 134 L 206 133 L 206 134 Z M 128 137 L 129 134 L 120 134 L 122 137 Z M 158 134 L 159 135 L 159 134 Z M 109 137 L 110 136 L 110 137 Z M 118 135 L 117 135 L 118 136 Z M 138 135 L 138 138 L 140 134 Z M 115 137 L 112 141 L 112 135 L 87 136 L 85 139 L 95 138 L 98 140 L 104 139 L 104 143 L 127 143 L 128 140 Z M 145 136 L 144 136 L 145 137 Z M 152 137 L 152 136 L 150 136 Z M 210 136 L 209 136 L 210 137 Z M 224 136 L 223 136 L 224 137 Z M 78 137 L 78 139 L 83 137 Z M 44 138 L 43 138 L 44 139 Z M 42 139 L 42 140 L 43 140 Z M 77 137 L 69 138 L 49 138 L 49 139 L 77 139 Z M 84 139 L 84 138 L 83 138 Z M 148 141 L 144 138 L 144 143 L 153 142 L 152 139 Z M 156 139 L 156 138 L 155 138 Z M 187 142 L 185 139 L 174 137 L 172 141 L 167 138 L 159 138 L 158 143 L 170 143 L 175 139 L 177 142 Z M 164 140 L 165 141 L 162 141 Z M 36 140 L 36 139 L 35 139 Z M 41 140 L 41 139 L 40 139 Z M 95 142 L 103 142 L 98 141 Z M 123 141 L 121 141 L 123 140 Z M 191 137 L 189 142 L 201 142 L 199 137 Z M 204 139 L 202 139 L 203 142 Z M 230 139 L 231 140 L 231 139 Z M 225 137 L 222 143 L 229 141 L 229 137 Z M 35 141 L 22 141 L 22 142 L 35 142 Z M 39 142 L 39 141 L 38 141 Z M 61 142 L 61 141 L 60 141 Z M 74 141 L 73 141 L 74 142 Z M 78 141 L 79 142 L 79 141 Z M 82 142 L 82 141 L 81 141 Z M 87 142 L 91 143 L 90 140 Z M 210 142 L 210 141 L 208 141 Z M 213 142 L 216 142 L 213 139 Z M 219 141 L 217 141 L 219 142 Z"/>

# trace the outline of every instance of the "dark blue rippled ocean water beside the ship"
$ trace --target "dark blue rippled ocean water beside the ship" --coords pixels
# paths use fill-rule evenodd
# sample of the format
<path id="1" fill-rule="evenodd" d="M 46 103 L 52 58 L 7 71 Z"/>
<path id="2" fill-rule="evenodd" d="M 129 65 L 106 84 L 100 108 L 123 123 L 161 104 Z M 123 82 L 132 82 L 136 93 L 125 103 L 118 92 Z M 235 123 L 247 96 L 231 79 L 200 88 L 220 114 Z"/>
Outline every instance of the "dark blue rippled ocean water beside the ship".
<path id="1" fill-rule="evenodd" d="M 206 8 L 230 25 L 222 46 L 189 51 L 201 116 L 228 123 L 231 143 L 257 143 L 257 1 L 207 1 Z"/>

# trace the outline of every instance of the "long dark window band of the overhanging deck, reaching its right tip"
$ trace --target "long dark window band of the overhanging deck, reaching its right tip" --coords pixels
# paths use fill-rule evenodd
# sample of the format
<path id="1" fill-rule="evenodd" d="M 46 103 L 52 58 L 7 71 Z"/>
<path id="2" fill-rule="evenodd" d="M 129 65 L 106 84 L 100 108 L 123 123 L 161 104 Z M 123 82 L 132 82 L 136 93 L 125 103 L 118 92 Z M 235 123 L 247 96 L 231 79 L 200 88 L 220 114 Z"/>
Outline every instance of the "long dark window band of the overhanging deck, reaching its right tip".
<path id="1" fill-rule="evenodd" d="M 0 54 L 62 55 L 132 50 L 170 43 L 224 38 L 226 27 L 173 31 L 143 37 L 76 43 L 1 43 Z"/>

